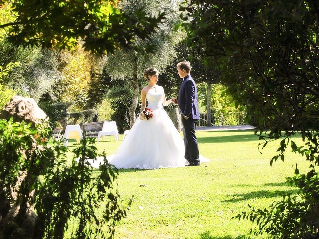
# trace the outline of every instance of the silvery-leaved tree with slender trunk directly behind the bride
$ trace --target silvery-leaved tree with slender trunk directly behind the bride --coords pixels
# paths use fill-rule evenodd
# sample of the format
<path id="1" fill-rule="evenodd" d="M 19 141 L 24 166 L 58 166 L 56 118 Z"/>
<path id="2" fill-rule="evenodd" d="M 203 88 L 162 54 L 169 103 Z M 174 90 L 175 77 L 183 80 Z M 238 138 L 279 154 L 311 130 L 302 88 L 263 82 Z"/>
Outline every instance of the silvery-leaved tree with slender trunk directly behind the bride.
<path id="1" fill-rule="evenodd" d="M 170 0 L 125 0 L 120 5 L 126 14 L 136 14 L 140 8 L 145 8 L 147 14 L 154 16 L 158 9 L 167 12 L 166 21 L 159 25 L 156 32 L 149 32 L 149 39 L 143 39 L 135 35 L 134 47 L 131 50 L 118 50 L 107 58 L 106 72 L 113 79 L 124 80 L 122 86 L 129 86 L 132 95 L 129 102 L 123 100 L 129 111 L 130 125 L 135 122 L 135 110 L 138 105 L 139 82 L 143 82 L 143 72 L 148 67 L 156 67 L 162 70 L 175 56 L 174 47 L 181 40 L 183 34 L 175 31 L 175 25 L 180 22 L 176 6 Z M 120 86 L 117 87 L 119 90 Z M 123 88 L 125 89 L 125 88 Z M 123 92 L 123 89 L 121 90 Z"/>

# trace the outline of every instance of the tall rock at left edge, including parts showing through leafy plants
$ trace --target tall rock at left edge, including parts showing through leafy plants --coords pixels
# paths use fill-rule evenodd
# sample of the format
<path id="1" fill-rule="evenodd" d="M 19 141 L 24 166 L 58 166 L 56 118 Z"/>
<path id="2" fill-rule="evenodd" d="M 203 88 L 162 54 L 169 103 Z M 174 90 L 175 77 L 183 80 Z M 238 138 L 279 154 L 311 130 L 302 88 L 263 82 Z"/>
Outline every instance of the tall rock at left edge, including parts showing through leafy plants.
<path id="1" fill-rule="evenodd" d="M 41 123 L 42 120 L 48 120 L 47 115 L 37 105 L 33 98 L 26 98 L 22 96 L 14 96 L 2 108 L 0 112 L 0 119 L 9 120 L 10 117 L 13 117 L 15 122 L 25 121 L 27 123 L 32 123 L 33 126 Z M 36 141 L 34 141 L 30 148 L 22 151 L 22 154 L 33 155 L 33 150 L 42 151 L 45 149 L 42 147 L 42 145 L 38 145 Z M 29 200 L 27 205 L 22 207 L 22 196 L 18 193 L 21 185 L 26 183 L 25 180 L 28 180 L 27 183 L 29 185 L 35 185 L 38 175 L 32 175 L 30 179 L 27 179 L 26 175 L 30 173 L 31 172 L 20 171 L 16 185 L 10 189 L 6 189 L 12 194 L 12 202 L 11 205 L 6 204 L 6 209 L 4 212 L 7 213 L 6 215 L 1 215 L 3 218 L 0 218 L 0 239 L 32 239 L 33 237 L 37 218 L 36 213 L 33 210 L 33 205 L 30 205 L 33 200 Z M 34 190 L 30 191 L 28 194 L 28 198 L 33 198 Z M 5 201 L 6 199 L 4 198 L 4 202 Z M 3 201 L 0 201 L 0 204 L 3 204 Z M 19 211 L 21 211 L 21 213 L 19 213 Z"/>

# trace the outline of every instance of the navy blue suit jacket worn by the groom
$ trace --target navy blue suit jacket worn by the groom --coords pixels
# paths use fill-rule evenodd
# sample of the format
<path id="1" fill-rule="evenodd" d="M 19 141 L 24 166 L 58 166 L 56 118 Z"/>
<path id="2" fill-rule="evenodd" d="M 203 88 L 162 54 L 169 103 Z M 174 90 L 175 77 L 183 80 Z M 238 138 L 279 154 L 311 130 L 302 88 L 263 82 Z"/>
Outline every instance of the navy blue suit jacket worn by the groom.
<path id="1" fill-rule="evenodd" d="M 178 93 L 178 106 L 184 116 L 199 119 L 196 83 L 190 75 L 185 76 Z"/>

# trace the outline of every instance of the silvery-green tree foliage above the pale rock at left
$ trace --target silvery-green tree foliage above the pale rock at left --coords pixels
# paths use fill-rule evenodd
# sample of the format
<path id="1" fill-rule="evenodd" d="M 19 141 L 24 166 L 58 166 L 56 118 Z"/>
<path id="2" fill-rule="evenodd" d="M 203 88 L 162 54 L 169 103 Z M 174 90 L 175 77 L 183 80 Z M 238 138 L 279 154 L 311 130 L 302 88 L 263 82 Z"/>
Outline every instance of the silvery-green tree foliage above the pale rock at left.
<path id="1" fill-rule="evenodd" d="M 0 48 L 1 66 L 20 62 L 19 66 L 3 79 L 2 84 L 6 88 L 14 89 L 17 94 L 32 97 L 36 101 L 46 92 L 53 96 L 52 86 L 61 80 L 56 51 L 35 47 L 24 49 L 7 40 L 0 41 Z"/>

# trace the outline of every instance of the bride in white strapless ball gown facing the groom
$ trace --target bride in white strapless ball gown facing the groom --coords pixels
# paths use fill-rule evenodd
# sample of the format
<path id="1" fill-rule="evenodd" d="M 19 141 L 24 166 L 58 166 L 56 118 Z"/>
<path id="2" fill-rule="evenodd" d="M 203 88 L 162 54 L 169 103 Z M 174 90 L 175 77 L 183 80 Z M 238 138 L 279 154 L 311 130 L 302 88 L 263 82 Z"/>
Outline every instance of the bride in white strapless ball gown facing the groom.
<path id="1" fill-rule="evenodd" d="M 144 77 L 149 84 L 141 91 L 141 110 L 146 107 L 147 100 L 153 117 L 146 119 L 141 111 L 117 153 L 108 160 L 117 168 L 183 167 L 186 163 L 184 141 L 163 108 L 173 100 L 166 100 L 163 87 L 156 85 L 157 69 L 145 70 Z"/>

